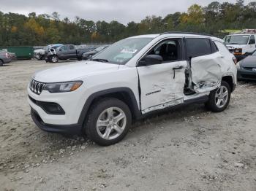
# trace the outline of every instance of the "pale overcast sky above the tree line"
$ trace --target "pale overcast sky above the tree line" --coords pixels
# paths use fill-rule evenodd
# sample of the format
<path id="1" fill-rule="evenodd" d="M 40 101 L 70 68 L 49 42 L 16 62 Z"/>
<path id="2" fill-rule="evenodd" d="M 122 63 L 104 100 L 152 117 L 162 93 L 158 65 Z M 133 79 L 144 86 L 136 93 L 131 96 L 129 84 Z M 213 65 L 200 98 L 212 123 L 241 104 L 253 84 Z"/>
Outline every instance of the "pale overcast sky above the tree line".
<path id="1" fill-rule="evenodd" d="M 214 0 L 0 0 L 0 11 L 23 15 L 58 12 L 61 18 L 69 17 L 70 20 L 78 16 L 86 20 L 117 20 L 127 24 L 129 21 L 140 22 L 148 15 L 165 17 L 174 12 L 186 12 L 192 4 L 206 6 L 211 1 Z M 250 1 L 255 0 L 245 0 L 245 4 Z"/>

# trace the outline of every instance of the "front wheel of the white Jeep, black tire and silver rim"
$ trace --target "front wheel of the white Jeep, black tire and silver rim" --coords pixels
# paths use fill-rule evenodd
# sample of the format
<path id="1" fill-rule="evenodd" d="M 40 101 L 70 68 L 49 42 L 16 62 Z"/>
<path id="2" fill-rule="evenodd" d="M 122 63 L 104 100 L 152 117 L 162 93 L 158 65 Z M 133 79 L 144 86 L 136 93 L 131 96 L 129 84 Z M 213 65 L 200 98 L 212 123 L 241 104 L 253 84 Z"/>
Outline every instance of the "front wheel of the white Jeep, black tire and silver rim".
<path id="1" fill-rule="evenodd" d="M 131 124 L 132 114 L 127 104 L 116 98 L 104 98 L 91 106 L 83 133 L 96 144 L 109 146 L 124 139 Z"/>

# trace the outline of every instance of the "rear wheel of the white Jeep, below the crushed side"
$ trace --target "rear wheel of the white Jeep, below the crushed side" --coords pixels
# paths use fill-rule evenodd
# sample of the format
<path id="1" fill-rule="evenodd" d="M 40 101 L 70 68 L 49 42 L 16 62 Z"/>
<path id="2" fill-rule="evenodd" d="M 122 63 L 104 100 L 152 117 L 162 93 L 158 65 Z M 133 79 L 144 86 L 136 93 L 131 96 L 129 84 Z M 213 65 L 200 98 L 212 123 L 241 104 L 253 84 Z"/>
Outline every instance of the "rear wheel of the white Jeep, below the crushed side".
<path id="1" fill-rule="evenodd" d="M 206 102 L 206 108 L 211 112 L 223 112 L 230 103 L 230 85 L 222 81 L 221 86 L 211 91 L 209 100 Z"/>

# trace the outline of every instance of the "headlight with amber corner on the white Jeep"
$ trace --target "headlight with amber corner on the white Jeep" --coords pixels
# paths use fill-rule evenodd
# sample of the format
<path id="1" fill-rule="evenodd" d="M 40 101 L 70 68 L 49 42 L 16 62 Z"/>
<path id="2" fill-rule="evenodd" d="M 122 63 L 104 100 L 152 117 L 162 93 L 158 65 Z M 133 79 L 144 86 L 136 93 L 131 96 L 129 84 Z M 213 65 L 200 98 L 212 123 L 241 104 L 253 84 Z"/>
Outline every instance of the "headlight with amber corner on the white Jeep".
<path id="1" fill-rule="evenodd" d="M 44 90 L 48 90 L 50 93 L 72 92 L 77 90 L 82 84 L 82 81 L 52 83 L 46 84 Z"/>

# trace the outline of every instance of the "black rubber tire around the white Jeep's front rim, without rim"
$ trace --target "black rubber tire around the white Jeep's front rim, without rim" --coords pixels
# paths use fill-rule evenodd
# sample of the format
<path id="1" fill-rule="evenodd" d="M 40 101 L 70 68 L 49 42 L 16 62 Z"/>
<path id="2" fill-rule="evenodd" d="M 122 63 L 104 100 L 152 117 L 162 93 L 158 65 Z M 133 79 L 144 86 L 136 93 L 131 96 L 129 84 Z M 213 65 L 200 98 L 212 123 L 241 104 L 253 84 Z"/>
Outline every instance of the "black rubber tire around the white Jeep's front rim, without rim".
<path id="1" fill-rule="evenodd" d="M 99 134 L 97 133 L 97 120 L 99 118 L 99 115 L 105 109 L 108 109 L 110 107 L 118 107 L 124 111 L 127 117 L 127 125 L 124 128 L 123 133 L 121 133 L 121 135 L 118 136 L 116 139 L 106 140 L 106 139 L 102 139 L 102 137 L 99 136 Z M 103 99 L 102 101 L 99 101 L 97 104 L 94 104 L 92 106 L 92 109 L 89 112 L 89 117 L 87 118 L 83 128 L 86 133 L 86 136 L 89 136 L 89 139 L 91 139 L 92 141 L 94 141 L 95 143 L 101 146 L 109 146 L 111 144 L 118 143 L 119 141 L 121 141 L 121 139 L 124 139 L 124 136 L 127 135 L 131 124 L 132 124 L 132 114 L 127 104 L 124 104 L 123 101 L 120 101 L 116 98 L 107 98 L 107 99 Z"/>

